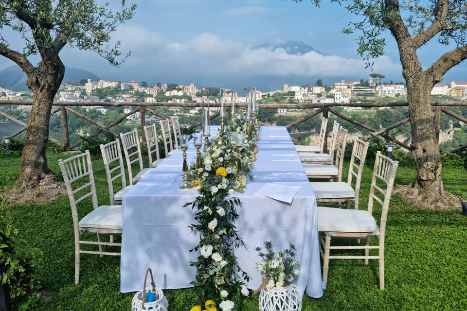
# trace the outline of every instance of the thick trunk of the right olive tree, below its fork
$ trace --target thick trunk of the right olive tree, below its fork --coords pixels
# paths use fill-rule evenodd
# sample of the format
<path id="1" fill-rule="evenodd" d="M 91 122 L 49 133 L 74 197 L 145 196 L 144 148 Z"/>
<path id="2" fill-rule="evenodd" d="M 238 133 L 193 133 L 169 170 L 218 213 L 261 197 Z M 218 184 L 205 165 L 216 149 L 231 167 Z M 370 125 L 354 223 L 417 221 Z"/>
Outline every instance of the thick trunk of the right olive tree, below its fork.
<path id="1" fill-rule="evenodd" d="M 412 154 L 416 177 L 408 189 L 412 201 L 431 208 L 446 208 L 448 201 L 441 180 L 441 155 L 431 110 L 431 81 L 423 74 L 407 80 L 409 116 L 412 133 Z"/>

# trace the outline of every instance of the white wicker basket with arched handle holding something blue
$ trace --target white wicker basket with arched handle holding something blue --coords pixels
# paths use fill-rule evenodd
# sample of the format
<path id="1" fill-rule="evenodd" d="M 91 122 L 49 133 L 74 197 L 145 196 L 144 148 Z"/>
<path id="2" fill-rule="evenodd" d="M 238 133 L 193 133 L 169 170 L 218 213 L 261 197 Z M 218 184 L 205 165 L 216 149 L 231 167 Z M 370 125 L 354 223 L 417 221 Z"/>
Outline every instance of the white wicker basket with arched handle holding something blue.
<path id="1" fill-rule="evenodd" d="M 151 287 L 146 288 L 146 279 L 148 273 L 151 276 Z M 153 293 L 156 297 L 155 300 L 153 302 L 145 302 L 146 293 Z M 148 268 L 146 270 L 146 275 L 144 276 L 143 290 L 136 293 L 133 297 L 133 300 L 131 301 L 131 311 L 167 311 L 168 307 L 169 303 L 167 302 L 167 297 L 164 296 L 164 293 L 161 289 L 156 288 L 151 268 Z"/>

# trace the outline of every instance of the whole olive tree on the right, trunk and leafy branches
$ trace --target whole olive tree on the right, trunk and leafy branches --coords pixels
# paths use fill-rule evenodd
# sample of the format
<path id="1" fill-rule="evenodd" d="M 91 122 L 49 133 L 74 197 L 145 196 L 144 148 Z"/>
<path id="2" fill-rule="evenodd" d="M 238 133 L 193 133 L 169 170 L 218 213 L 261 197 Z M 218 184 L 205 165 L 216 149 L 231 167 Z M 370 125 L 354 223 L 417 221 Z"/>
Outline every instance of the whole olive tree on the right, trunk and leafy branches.
<path id="1" fill-rule="evenodd" d="M 301 2 L 303 0 L 294 0 Z M 311 0 L 319 6 L 321 0 Z M 367 66 L 382 55 L 386 46 L 383 34 L 395 39 L 407 84 L 412 153 L 416 178 L 405 193 L 414 202 L 433 208 L 448 207 L 441 180 L 441 156 L 433 122 L 430 93 L 443 75 L 467 58 L 466 0 L 331 0 L 359 17 L 343 32 L 359 34 L 358 53 Z M 417 51 L 430 40 L 453 46 L 423 68 Z"/>

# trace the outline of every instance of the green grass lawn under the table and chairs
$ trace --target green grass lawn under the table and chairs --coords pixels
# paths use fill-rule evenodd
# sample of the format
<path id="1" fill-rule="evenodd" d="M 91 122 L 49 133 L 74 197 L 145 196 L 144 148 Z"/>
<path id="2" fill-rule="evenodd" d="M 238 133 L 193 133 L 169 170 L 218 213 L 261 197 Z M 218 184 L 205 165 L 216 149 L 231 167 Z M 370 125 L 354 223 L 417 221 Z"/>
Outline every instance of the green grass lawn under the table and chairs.
<path id="1" fill-rule="evenodd" d="M 68 155 L 49 154 L 49 166 Z M 100 156 L 94 156 L 99 204 L 108 204 L 108 189 Z M 11 188 L 20 159 L 0 157 L 0 188 Z M 147 165 L 147 163 L 145 163 Z M 360 208 L 366 207 L 371 168 L 364 171 Z M 396 183 L 413 180 L 414 170 L 401 167 Z M 444 169 L 446 190 L 467 199 L 467 176 L 462 169 Z M 81 210 L 92 209 L 90 202 Z M 74 246 L 70 205 L 66 196 L 52 202 L 8 207 L 4 212 L 20 236 L 42 250 L 39 277 L 50 299 L 34 310 L 130 310 L 133 294 L 121 294 L 120 258 L 82 255 L 81 278 L 73 284 Z M 375 210 L 375 215 L 380 209 Z M 377 216 L 379 217 L 379 216 Z M 377 260 L 331 260 L 328 287 L 320 299 L 305 295 L 303 310 L 466 310 L 467 217 L 423 210 L 393 197 L 386 231 L 386 290 L 378 289 Z M 253 264 L 253 263 L 252 263 Z M 188 311 L 198 304 L 195 289 L 166 290 L 171 311 Z M 236 309 L 258 310 L 258 295 Z"/>

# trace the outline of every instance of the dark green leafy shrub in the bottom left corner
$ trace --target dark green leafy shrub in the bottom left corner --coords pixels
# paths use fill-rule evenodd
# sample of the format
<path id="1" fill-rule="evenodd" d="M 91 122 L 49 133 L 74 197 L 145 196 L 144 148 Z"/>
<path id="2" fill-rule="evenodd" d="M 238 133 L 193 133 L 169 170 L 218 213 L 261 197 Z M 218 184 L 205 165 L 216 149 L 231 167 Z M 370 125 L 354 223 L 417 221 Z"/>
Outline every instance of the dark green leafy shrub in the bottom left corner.
<path id="1" fill-rule="evenodd" d="M 40 284 L 36 267 L 40 251 L 28 247 L 17 236 L 18 229 L 0 214 L 0 280 L 2 284 L 8 284 L 12 299 L 24 306 L 37 297 Z"/>

